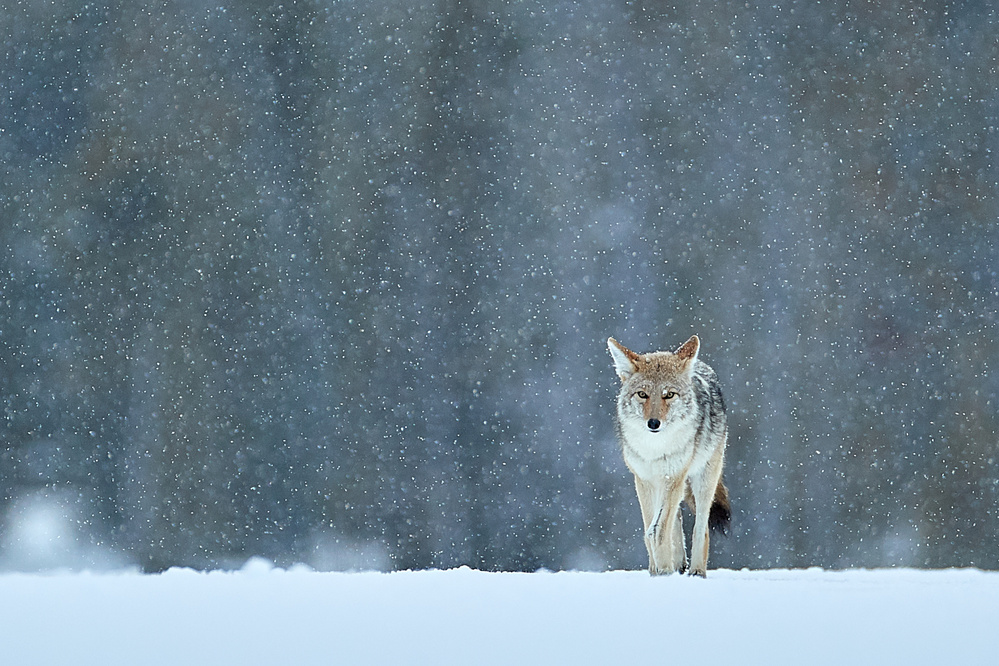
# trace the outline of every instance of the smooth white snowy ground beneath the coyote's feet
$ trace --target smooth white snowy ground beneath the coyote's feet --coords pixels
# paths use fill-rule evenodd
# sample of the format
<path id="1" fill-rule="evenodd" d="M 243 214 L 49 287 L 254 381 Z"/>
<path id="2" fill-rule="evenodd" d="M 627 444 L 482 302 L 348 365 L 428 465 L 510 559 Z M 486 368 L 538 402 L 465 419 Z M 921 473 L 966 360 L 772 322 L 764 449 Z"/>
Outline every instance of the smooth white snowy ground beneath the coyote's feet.
<path id="1" fill-rule="evenodd" d="M 994 664 L 977 570 L 0 575 L 3 664 Z"/>

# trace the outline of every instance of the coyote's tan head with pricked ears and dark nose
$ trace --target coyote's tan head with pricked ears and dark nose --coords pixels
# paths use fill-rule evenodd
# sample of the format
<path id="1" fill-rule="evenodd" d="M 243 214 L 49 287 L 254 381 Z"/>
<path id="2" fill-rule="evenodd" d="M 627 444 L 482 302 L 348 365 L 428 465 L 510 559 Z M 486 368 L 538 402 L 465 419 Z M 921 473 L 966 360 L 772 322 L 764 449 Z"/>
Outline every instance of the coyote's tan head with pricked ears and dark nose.
<path id="1" fill-rule="evenodd" d="M 614 338 L 607 339 L 607 346 L 621 378 L 617 413 L 622 426 L 634 427 L 640 421 L 649 432 L 659 432 L 694 407 L 691 375 L 700 347 L 696 335 L 675 352 L 636 354 Z"/>

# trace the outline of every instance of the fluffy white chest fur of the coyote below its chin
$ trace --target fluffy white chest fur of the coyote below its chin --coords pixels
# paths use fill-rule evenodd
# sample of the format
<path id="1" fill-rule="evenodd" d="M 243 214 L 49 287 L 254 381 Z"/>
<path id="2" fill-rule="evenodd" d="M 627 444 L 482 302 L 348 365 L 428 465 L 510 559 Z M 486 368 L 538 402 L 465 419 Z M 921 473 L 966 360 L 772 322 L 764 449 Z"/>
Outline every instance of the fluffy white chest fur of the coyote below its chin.
<path id="1" fill-rule="evenodd" d="M 693 424 L 670 424 L 651 432 L 642 423 L 622 424 L 624 461 L 642 479 L 671 477 L 681 473 L 694 453 Z"/>

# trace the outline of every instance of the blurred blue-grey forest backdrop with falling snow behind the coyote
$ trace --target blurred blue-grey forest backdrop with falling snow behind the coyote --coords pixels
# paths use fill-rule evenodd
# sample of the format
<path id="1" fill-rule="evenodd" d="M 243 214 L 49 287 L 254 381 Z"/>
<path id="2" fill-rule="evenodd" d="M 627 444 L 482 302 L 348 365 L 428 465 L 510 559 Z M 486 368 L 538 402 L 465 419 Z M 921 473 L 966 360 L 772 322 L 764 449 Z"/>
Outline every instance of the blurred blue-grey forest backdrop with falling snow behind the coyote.
<path id="1" fill-rule="evenodd" d="M 999 566 L 992 2 L 0 10 L 0 568 L 641 568 L 606 339 L 730 409 L 712 566 Z"/>

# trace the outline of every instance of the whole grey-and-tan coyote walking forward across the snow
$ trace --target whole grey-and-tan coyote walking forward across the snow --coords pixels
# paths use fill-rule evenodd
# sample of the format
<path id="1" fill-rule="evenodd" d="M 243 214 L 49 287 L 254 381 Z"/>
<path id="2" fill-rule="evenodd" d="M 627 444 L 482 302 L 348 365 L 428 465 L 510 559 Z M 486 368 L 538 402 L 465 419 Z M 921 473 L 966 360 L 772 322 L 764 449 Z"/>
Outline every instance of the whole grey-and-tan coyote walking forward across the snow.
<path id="1" fill-rule="evenodd" d="M 694 513 L 690 573 L 708 570 L 708 526 L 728 530 L 731 508 L 722 482 L 728 425 L 718 376 L 697 360 L 696 335 L 675 352 L 636 354 L 607 340 L 621 378 L 617 434 L 635 475 L 645 524 L 649 573 L 687 570 L 680 500 Z"/>

